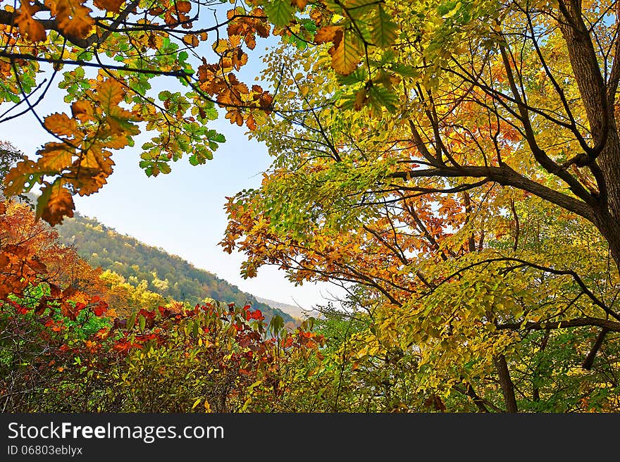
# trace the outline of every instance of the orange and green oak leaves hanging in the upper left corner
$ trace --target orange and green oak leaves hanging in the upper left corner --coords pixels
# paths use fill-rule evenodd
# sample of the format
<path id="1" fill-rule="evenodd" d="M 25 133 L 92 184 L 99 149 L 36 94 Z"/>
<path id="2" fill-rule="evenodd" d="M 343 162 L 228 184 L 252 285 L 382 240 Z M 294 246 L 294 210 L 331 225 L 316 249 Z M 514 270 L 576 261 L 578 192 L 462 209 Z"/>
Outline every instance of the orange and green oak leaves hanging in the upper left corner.
<path id="1" fill-rule="evenodd" d="M 212 158 L 213 150 L 222 141 L 207 127 L 218 116 L 214 103 L 225 108 L 231 123 L 247 124 L 251 129 L 256 127 L 253 111 L 270 110 L 273 99 L 268 91 L 258 85 L 251 88 L 235 75 L 248 63 L 247 50 L 254 49 L 256 40 L 271 32 L 272 25 L 260 7 L 223 6 L 228 21 L 216 19 L 221 33 L 214 36 L 220 39 L 215 38 L 213 43 L 221 59 L 208 64 L 206 58 L 187 50 L 198 50 L 209 38 L 207 30 L 197 30 L 192 24 L 194 12 L 199 12 L 192 9 L 191 1 L 164 0 L 147 9 L 119 0 L 96 0 L 92 4 L 46 0 L 44 5 L 49 13 L 23 1 L 14 14 L 17 27 L 6 29 L 0 25 L 1 37 L 8 40 L 6 44 L 13 51 L 23 46 L 20 52 L 32 54 L 35 59 L 59 60 L 54 67 L 63 75 L 59 87 L 66 89 L 64 101 L 70 104 L 70 116 L 61 109 L 40 116 L 56 139 L 39 151 L 42 158 L 20 163 L 11 173 L 11 194 L 43 182 L 62 184 L 70 194 L 96 192 L 111 174 L 111 150 L 133 145 L 138 121 L 154 132 L 144 144 L 140 165 L 147 175 L 158 175 L 171 171 L 171 161 L 185 155 L 194 165 Z M 279 17 L 304 6 L 303 2 L 289 4 L 278 13 Z M 93 20 L 98 14 L 92 12 L 94 8 L 106 15 L 97 24 Z M 135 27 L 120 27 L 126 20 Z M 170 30 L 182 33 L 171 35 Z M 31 42 L 44 43 L 35 48 Z M 60 61 L 65 60 L 120 69 L 102 70 L 94 80 L 85 72 L 87 67 L 63 68 Z M 23 101 L 39 84 L 38 69 L 37 61 L 1 58 L 0 73 L 6 78 L 0 82 L 0 101 Z M 162 73 L 185 89 L 173 90 L 158 101 L 151 94 L 151 82 Z M 56 183 L 56 179 L 62 181 Z M 54 194 L 56 190 L 54 187 Z"/>

